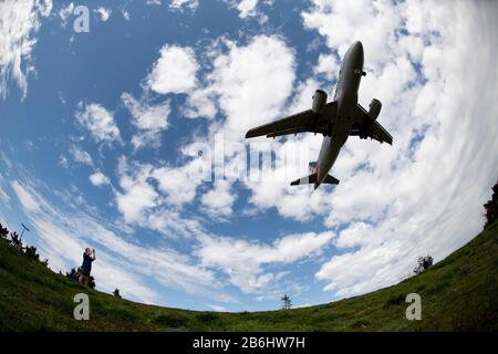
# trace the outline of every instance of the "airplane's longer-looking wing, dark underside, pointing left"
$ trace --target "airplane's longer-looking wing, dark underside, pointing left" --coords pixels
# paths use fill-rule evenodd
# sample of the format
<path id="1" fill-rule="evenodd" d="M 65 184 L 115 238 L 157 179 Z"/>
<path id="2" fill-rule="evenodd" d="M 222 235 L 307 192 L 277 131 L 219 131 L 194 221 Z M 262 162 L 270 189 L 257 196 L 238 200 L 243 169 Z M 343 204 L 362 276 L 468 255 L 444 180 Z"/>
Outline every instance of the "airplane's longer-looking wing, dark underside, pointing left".
<path id="1" fill-rule="evenodd" d="M 336 102 L 331 102 L 326 104 L 323 111 L 319 114 L 308 110 L 272 123 L 260 125 L 247 132 L 246 138 L 263 135 L 267 137 L 276 137 L 304 132 L 324 133 L 326 129 L 326 124 L 329 124 L 331 118 L 335 116 L 335 111 L 338 110 L 336 106 Z"/>

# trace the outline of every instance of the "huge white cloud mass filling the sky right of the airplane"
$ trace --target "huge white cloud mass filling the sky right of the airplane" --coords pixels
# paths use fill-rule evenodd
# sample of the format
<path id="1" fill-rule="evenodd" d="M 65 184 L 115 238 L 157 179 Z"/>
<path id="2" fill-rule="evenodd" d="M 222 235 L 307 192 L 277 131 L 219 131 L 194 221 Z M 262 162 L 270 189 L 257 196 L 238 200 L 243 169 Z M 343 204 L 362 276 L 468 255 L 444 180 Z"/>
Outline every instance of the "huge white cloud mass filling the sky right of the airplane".
<path id="1" fill-rule="evenodd" d="M 326 197 L 325 225 L 345 227 L 338 248 L 356 248 L 317 273 L 336 296 L 393 284 L 418 256 L 440 260 L 481 229 L 498 173 L 489 155 L 498 150 L 497 10 L 491 2 L 317 1 L 302 13 L 340 53 L 352 39 L 363 42 L 360 101 L 381 98 L 380 122 L 394 135 L 392 147 L 350 139 L 333 168 L 341 185 Z M 403 23 L 407 33 L 395 35 Z"/>

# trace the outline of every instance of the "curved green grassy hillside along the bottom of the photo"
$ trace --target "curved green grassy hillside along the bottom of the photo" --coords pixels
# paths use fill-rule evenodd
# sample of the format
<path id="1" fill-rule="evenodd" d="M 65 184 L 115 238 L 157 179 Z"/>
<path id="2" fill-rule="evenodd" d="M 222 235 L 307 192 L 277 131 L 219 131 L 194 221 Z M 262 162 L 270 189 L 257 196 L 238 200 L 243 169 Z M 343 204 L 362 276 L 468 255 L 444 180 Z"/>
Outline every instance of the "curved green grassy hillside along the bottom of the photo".
<path id="1" fill-rule="evenodd" d="M 86 292 L 91 320 L 73 319 Z M 422 296 L 407 321 L 405 296 Z M 288 311 L 217 313 L 144 305 L 89 290 L 0 240 L 0 331 L 497 331 L 498 222 L 429 270 L 397 285 Z"/>

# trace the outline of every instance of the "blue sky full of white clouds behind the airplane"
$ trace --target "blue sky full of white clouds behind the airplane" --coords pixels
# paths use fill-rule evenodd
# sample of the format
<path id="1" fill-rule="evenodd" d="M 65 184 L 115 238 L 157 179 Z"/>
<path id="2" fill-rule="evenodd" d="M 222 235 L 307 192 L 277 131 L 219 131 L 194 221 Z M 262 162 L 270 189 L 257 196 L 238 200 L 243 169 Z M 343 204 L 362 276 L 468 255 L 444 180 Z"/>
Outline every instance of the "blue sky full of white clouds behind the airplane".
<path id="1" fill-rule="evenodd" d="M 77 6 L 89 33 L 73 29 Z M 55 271 L 94 247 L 98 289 L 168 306 L 269 310 L 283 293 L 309 305 L 395 283 L 484 222 L 498 171 L 490 7 L 3 2 L 0 221 L 31 226 L 27 242 Z M 360 103 L 383 102 L 394 146 L 351 138 L 332 171 L 341 184 L 311 192 L 288 184 L 321 138 L 261 138 L 246 148 L 277 164 L 299 145 L 309 158 L 283 178 L 264 166 L 259 180 L 230 178 L 247 128 L 308 110 L 317 88 L 332 96 L 355 40 Z M 228 176 L 193 178 L 212 167 L 198 147 L 218 162 L 220 137 Z"/>

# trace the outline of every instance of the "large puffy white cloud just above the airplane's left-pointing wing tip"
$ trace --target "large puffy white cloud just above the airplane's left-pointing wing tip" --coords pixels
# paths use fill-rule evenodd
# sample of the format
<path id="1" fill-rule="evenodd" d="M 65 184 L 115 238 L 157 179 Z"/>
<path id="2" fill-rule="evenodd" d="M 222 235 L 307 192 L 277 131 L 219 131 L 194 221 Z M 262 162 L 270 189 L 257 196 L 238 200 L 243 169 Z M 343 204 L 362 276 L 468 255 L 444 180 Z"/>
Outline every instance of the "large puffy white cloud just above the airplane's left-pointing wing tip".
<path id="1" fill-rule="evenodd" d="M 294 55 L 278 35 L 258 35 L 242 46 L 226 44 L 229 51 L 216 56 L 207 86 L 226 116 L 220 132 L 232 142 L 281 113 L 292 92 Z"/>

